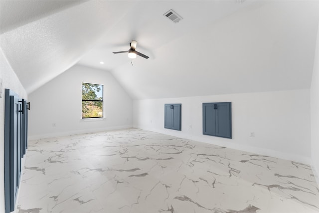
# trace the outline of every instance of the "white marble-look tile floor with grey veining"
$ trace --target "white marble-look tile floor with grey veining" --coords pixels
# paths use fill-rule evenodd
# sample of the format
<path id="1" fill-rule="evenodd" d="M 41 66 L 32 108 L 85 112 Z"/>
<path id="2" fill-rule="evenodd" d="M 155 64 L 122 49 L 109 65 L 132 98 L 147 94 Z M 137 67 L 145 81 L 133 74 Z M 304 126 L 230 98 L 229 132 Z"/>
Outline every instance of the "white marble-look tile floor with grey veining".
<path id="1" fill-rule="evenodd" d="M 309 165 L 141 129 L 30 141 L 15 213 L 318 213 Z"/>

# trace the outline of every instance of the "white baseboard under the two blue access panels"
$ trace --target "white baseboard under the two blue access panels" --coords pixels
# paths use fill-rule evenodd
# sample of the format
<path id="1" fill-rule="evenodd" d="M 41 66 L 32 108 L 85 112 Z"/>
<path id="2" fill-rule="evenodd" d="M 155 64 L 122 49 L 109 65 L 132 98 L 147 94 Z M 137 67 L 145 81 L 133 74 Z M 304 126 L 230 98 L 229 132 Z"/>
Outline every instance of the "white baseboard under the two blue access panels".
<path id="1" fill-rule="evenodd" d="M 296 154 L 291 154 L 291 153 L 285 153 L 285 152 L 279 152 L 276 150 L 270 150 L 270 149 L 265 149 L 265 148 L 260 148 L 260 147 L 254 147 L 254 146 L 248 146 L 248 145 L 242 145 L 242 144 L 234 144 L 234 143 L 223 143 L 223 142 L 217 142 L 214 141 L 212 142 L 211 139 L 207 139 L 206 136 L 194 136 L 190 134 L 185 134 L 180 131 L 176 130 L 168 130 L 168 129 L 152 129 L 148 127 L 143 127 L 143 126 L 136 126 L 136 128 L 148 130 L 148 131 L 153 131 L 153 132 L 158 132 L 166 135 L 171 135 L 175 137 L 180 137 L 180 138 L 186 138 L 189 140 L 194 140 L 194 141 L 199 141 L 199 142 L 204 142 L 208 144 L 213 144 L 217 146 L 222 146 L 222 147 L 227 147 L 230 149 L 236 149 L 244 152 L 250 152 L 258 155 L 266 155 L 274 158 L 279 158 L 279 159 L 284 159 L 284 160 L 289 160 L 289 161 L 296 161 L 299 163 L 303 164 L 308 164 L 311 165 L 311 159 L 305 156 L 301 155 L 296 155 Z"/>

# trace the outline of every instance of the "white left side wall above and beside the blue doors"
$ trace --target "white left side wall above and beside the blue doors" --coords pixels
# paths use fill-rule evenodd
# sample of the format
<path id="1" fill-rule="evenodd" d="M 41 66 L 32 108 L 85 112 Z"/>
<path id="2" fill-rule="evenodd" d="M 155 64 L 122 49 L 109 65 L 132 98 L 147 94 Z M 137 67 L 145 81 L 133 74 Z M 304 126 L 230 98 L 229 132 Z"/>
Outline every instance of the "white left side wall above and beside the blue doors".
<path id="1" fill-rule="evenodd" d="M 2 213 L 4 212 L 4 89 L 11 89 L 20 98 L 27 99 L 26 91 L 8 63 L 2 49 L 0 49 L 0 82 L 2 82 L 0 88 L 2 92 L 2 98 L 0 98 L 0 213 Z"/>

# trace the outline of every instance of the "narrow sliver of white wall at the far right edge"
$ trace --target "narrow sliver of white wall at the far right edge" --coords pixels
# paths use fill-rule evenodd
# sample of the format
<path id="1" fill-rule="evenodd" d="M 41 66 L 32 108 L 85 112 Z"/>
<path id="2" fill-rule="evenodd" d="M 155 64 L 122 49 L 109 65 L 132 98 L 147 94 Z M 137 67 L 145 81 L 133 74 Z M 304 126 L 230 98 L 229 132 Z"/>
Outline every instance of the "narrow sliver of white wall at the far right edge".
<path id="1" fill-rule="evenodd" d="M 312 168 L 319 185 L 319 30 L 311 83 L 311 150 Z"/>

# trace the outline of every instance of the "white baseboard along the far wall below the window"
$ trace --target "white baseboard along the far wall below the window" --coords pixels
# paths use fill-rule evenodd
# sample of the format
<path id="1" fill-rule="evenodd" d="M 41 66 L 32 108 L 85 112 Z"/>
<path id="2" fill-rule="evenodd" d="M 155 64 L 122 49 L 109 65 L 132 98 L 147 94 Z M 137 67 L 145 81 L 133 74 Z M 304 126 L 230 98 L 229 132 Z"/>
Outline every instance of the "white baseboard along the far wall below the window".
<path id="1" fill-rule="evenodd" d="M 117 129 L 127 129 L 127 128 L 132 128 L 132 125 L 112 126 L 112 127 L 103 127 L 103 128 L 95 128 L 95 129 L 83 129 L 83 130 L 74 130 L 74 131 L 66 131 L 66 132 L 55 132 L 55 133 L 47 133 L 47 134 L 41 134 L 41 135 L 29 135 L 28 140 L 38 140 L 38 139 L 44 139 L 44 138 L 78 135 L 78 134 L 102 132 L 102 131 L 117 130 Z"/>

